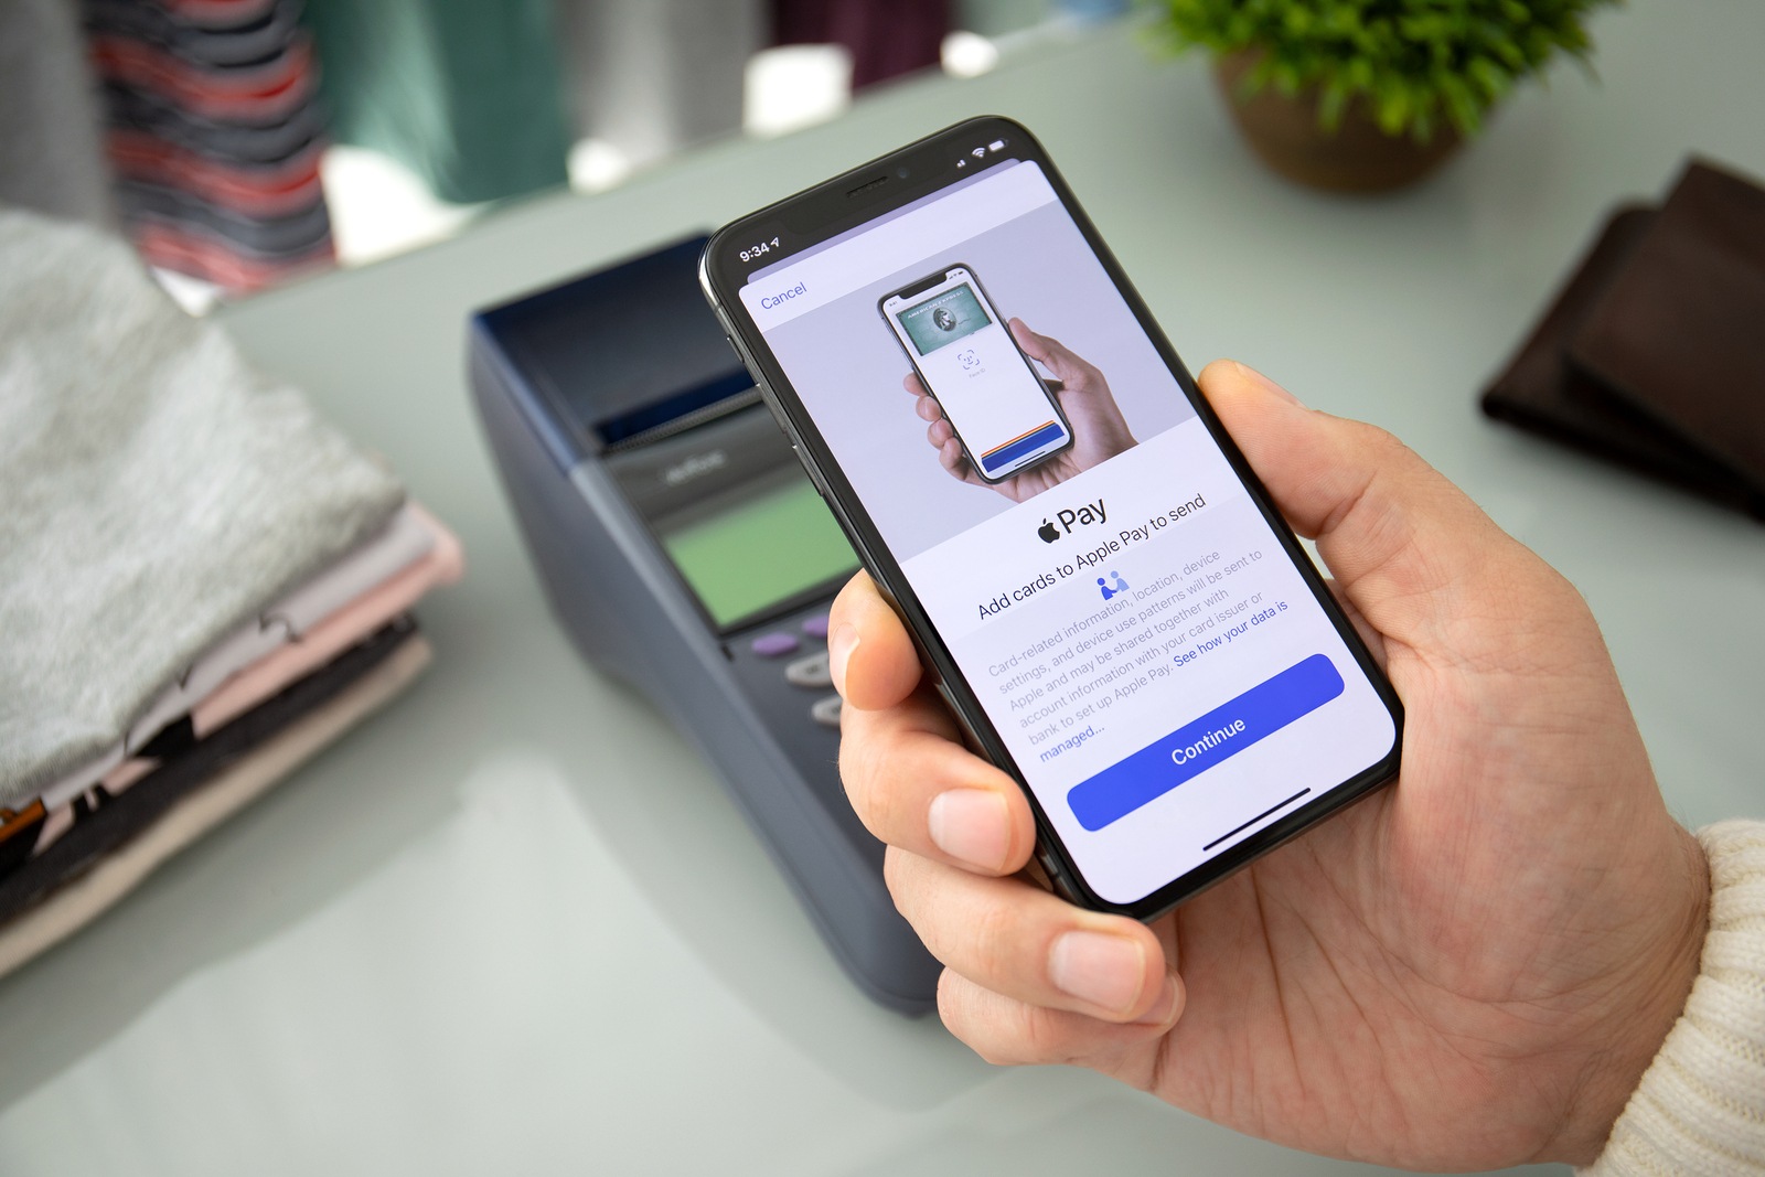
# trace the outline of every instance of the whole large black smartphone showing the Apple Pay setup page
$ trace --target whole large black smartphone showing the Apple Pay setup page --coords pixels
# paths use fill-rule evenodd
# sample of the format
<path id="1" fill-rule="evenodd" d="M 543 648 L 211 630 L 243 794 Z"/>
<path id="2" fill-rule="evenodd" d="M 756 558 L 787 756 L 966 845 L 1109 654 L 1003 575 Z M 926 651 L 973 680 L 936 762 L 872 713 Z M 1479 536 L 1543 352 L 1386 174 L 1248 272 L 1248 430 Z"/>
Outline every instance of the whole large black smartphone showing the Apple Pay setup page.
<path id="1" fill-rule="evenodd" d="M 1063 895 L 1149 919 L 1396 776 L 1396 693 L 1024 127 L 969 120 L 782 199 L 699 272 L 932 681 L 1027 792 Z M 891 298 L 964 286 L 948 330 L 937 305 L 877 330 Z M 916 334 L 980 318 L 1047 372 L 1041 424 L 971 432 L 927 371 Z M 1034 402 L 1017 374 L 994 395 Z M 976 469 L 1047 422 L 1063 448 Z"/>

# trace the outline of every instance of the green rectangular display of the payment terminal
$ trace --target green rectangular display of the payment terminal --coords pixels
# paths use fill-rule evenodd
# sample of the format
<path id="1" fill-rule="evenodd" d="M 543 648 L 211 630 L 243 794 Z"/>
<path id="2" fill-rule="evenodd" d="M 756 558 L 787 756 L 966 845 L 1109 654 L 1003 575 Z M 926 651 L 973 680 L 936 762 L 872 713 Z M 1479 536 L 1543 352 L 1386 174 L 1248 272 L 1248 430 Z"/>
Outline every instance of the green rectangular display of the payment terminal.
<path id="1" fill-rule="evenodd" d="M 720 630 L 858 568 L 840 524 L 805 478 L 734 501 L 720 496 L 710 512 L 658 531 Z"/>

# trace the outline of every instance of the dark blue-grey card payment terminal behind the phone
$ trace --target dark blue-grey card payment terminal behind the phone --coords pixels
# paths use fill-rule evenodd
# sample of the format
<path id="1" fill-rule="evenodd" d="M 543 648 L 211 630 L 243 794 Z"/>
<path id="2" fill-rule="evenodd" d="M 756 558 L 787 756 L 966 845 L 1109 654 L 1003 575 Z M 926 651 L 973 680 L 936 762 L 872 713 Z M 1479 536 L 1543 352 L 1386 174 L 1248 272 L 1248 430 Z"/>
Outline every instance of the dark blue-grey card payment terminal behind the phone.
<path id="1" fill-rule="evenodd" d="M 722 773 L 884 1006 L 939 965 L 838 780 L 828 607 L 858 559 L 697 284 L 704 238 L 478 312 L 471 388 L 552 611 Z"/>

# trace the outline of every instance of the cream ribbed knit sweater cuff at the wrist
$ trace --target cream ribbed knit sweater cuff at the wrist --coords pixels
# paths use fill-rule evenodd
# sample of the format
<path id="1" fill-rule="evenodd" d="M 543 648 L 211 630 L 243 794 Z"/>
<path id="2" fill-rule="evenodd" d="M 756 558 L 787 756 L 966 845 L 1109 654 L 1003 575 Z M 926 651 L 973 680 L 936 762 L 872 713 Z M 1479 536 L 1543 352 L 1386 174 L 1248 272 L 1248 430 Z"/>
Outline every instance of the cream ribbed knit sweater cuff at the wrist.
<path id="1" fill-rule="evenodd" d="M 1765 822 L 1698 831 L 1710 930 L 1686 1013 L 1592 1177 L 1765 1175 Z"/>

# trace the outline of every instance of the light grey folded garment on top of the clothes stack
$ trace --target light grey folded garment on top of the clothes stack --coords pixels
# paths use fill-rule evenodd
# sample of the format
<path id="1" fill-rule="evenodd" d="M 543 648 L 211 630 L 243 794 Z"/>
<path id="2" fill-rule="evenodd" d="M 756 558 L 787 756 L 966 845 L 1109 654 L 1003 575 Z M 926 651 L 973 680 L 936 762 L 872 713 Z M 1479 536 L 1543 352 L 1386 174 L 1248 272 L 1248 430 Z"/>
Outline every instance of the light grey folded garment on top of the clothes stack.
<path id="1" fill-rule="evenodd" d="M 0 210 L 0 806 L 115 746 L 402 496 L 125 244 Z"/>

